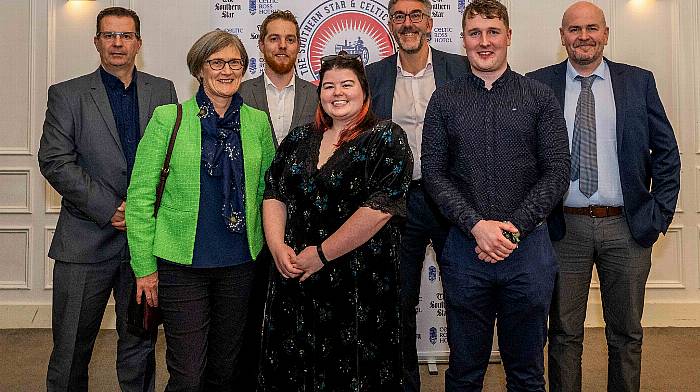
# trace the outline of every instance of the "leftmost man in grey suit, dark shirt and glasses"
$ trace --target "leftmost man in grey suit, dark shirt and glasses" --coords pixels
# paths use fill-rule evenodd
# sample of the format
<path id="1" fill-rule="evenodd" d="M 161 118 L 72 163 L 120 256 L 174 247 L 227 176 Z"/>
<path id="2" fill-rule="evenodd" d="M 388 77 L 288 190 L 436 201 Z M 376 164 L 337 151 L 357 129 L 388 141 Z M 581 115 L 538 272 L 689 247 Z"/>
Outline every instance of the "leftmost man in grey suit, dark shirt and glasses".
<path id="1" fill-rule="evenodd" d="M 49 257 L 53 352 L 49 391 L 86 391 L 88 365 L 110 293 L 117 316 L 122 391 L 155 387 L 155 336 L 126 330 L 133 272 L 126 243 L 126 189 L 136 147 L 156 106 L 177 102 L 169 80 L 138 72 L 140 22 L 121 7 L 97 16 L 95 72 L 51 86 L 39 167 L 63 197 Z"/>

